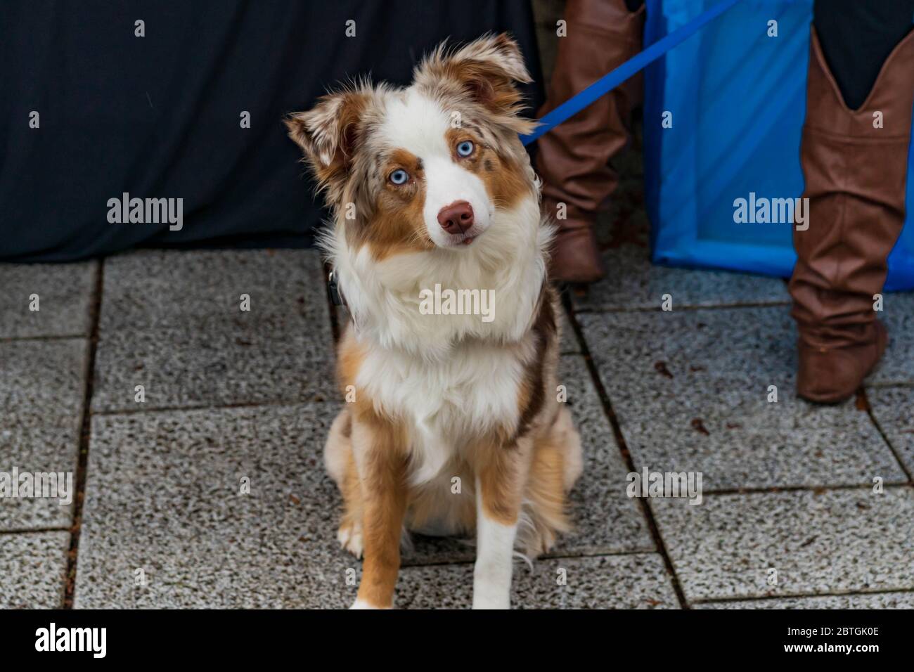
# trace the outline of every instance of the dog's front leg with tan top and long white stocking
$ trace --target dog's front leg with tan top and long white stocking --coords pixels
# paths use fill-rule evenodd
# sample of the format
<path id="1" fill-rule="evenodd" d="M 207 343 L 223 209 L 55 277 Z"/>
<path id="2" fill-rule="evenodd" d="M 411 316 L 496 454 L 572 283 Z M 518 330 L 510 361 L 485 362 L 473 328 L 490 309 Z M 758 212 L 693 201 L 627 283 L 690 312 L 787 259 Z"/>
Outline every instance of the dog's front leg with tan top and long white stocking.
<path id="1" fill-rule="evenodd" d="M 496 446 L 476 465 L 473 609 L 509 609 L 529 446 Z"/>

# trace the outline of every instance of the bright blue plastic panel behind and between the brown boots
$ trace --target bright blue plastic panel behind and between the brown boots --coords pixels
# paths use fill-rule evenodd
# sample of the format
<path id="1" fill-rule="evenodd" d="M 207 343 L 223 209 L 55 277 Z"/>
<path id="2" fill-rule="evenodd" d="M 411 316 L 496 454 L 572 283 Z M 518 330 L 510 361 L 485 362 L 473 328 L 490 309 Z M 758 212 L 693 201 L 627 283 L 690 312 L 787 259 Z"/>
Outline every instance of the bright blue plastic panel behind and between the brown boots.
<path id="1" fill-rule="evenodd" d="M 647 0 L 645 44 L 717 1 Z M 654 261 L 790 276 L 792 224 L 736 223 L 733 204 L 750 193 L 802 195 L 812 12 L 812 0 L 742 0 L 645 70 L 644 169 Z M 768 35 L 771 20 L 777 37 Z M 672 112 L 672 128 L 661 124 L 664 112 Z M 908 204 L 912 195 L 914 169 Z M 888 258 L 889 291 L 914 289 L 912 209 Z"/>

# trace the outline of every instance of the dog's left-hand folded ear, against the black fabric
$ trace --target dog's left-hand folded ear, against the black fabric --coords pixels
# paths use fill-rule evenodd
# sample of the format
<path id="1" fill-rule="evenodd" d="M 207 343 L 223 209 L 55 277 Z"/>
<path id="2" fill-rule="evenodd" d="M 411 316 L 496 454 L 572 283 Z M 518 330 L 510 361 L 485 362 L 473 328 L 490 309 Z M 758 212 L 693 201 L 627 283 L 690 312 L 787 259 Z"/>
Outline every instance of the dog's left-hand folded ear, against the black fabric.
<path id="1" fill-rule="evenodd" d="M 302 148 L 318 187 L 327 190 L 331 202 L 342 195 L 368 101 L 367 91 L 330 93 L 308 112 L 293 112 L 284 120 L 289 137 Z"/>

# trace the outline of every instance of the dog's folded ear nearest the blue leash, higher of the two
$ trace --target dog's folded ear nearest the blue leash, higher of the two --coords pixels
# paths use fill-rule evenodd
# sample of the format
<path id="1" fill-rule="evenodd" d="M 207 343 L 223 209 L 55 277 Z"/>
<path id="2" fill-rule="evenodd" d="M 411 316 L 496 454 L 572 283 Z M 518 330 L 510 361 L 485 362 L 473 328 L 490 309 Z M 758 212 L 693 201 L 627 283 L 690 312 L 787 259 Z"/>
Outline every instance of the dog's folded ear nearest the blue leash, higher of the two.
<path id="1" fill-rule="evenodd" d="M 456 50 L 441 44 L 414 74 L 417 84 L 431 90 L 457 84 L 462 95 L 484 106 L 492 121 L 517 133 L 530 133 L 535 127 L 520 116 L 523 96 L 515 86 L 515 82 L 533 80 L 520 48 L 506 33 L 480 37 Z"/>

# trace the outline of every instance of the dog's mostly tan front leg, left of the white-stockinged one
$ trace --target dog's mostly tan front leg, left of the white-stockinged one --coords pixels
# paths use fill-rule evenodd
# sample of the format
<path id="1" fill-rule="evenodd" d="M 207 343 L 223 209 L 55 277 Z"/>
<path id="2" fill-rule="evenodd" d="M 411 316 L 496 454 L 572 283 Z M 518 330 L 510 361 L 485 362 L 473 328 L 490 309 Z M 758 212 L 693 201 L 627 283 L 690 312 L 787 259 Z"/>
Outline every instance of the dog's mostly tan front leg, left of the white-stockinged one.
<path id="1" fill-rule="evenodd" d="M 389 609 L 399 573 L 399 543 L 406 514 L 406 457 L 402 432 L 384 421 L 353 427 L 362 485 L 365 560 L 354 609 Z"/>

